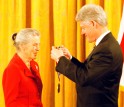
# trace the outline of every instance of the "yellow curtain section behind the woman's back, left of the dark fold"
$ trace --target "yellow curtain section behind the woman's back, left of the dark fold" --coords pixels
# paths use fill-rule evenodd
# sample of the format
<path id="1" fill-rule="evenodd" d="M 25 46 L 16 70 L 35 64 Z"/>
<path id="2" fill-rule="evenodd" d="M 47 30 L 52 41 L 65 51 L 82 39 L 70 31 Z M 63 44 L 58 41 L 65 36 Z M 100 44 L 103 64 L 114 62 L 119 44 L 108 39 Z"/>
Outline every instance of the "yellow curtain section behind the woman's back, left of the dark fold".
<path id="1" fill-rule="evenodd" d="M 4 107 L 2 75 L 15 53 L 12 34 L 25 27 L 25 0 L 0 0 L 0 107 Z"/>

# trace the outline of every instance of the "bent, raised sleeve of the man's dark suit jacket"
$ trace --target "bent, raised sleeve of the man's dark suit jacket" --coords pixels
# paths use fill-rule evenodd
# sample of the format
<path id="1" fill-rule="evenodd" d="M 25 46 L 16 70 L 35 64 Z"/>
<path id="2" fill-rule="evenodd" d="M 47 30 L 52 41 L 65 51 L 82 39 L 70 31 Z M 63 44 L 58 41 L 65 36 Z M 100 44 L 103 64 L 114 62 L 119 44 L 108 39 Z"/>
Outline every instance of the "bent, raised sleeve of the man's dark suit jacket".
<path id="1" fill-rule="evenodd" d="M 77 84 L 93 84 L 109 73 L 112 61 L 112 54 L 109 51 L 96 52 L 84 63 L 75 58 L 70 61 L 63 56 L 56 66 L 56 71 Z"/>

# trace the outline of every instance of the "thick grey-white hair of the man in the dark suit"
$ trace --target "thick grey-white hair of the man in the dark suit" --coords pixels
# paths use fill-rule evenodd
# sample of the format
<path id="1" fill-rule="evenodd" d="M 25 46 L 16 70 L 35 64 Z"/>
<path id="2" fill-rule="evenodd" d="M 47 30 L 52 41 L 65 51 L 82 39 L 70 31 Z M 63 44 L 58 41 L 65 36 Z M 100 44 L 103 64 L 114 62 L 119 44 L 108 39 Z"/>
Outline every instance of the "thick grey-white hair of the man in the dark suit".
<path id="1" fill-rule="evenodd" d="M 76 21 L 96 21 L 101 26 L 107 26 L 107 16 L 103 8 L 95 4 L 83 6 L 76 15 Z"/>

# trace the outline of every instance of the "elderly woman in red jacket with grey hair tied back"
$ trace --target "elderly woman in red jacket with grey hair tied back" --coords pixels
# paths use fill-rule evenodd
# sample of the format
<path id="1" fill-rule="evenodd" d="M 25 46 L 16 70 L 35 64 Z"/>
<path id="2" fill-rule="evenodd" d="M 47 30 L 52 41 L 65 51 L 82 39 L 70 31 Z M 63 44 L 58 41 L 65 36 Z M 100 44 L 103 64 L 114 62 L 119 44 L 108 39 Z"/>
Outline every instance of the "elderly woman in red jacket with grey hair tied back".
<path id="1" fill-rule="evenodd" d="M 40 47 L 40 34 L 32 28 L 12 36 L 16 53 L 3 73 L 6 107 L 43 107 L 42 81 L 34 59 Z"/>

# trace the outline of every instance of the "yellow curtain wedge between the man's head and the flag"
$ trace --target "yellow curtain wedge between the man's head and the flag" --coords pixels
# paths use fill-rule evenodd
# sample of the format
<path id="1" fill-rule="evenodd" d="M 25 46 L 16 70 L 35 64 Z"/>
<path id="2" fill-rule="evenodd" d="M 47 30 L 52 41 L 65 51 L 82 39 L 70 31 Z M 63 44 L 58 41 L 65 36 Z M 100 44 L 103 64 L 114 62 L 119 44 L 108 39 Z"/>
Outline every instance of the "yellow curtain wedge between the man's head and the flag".
<path id="1" fill-rule="evenodd" d="M 112 0 L 105 0 L 104 9 L 108 18 L 108 28 L 117 39 L 122 15 L 122 0 L 115 0 L 114 2 Z"/>

